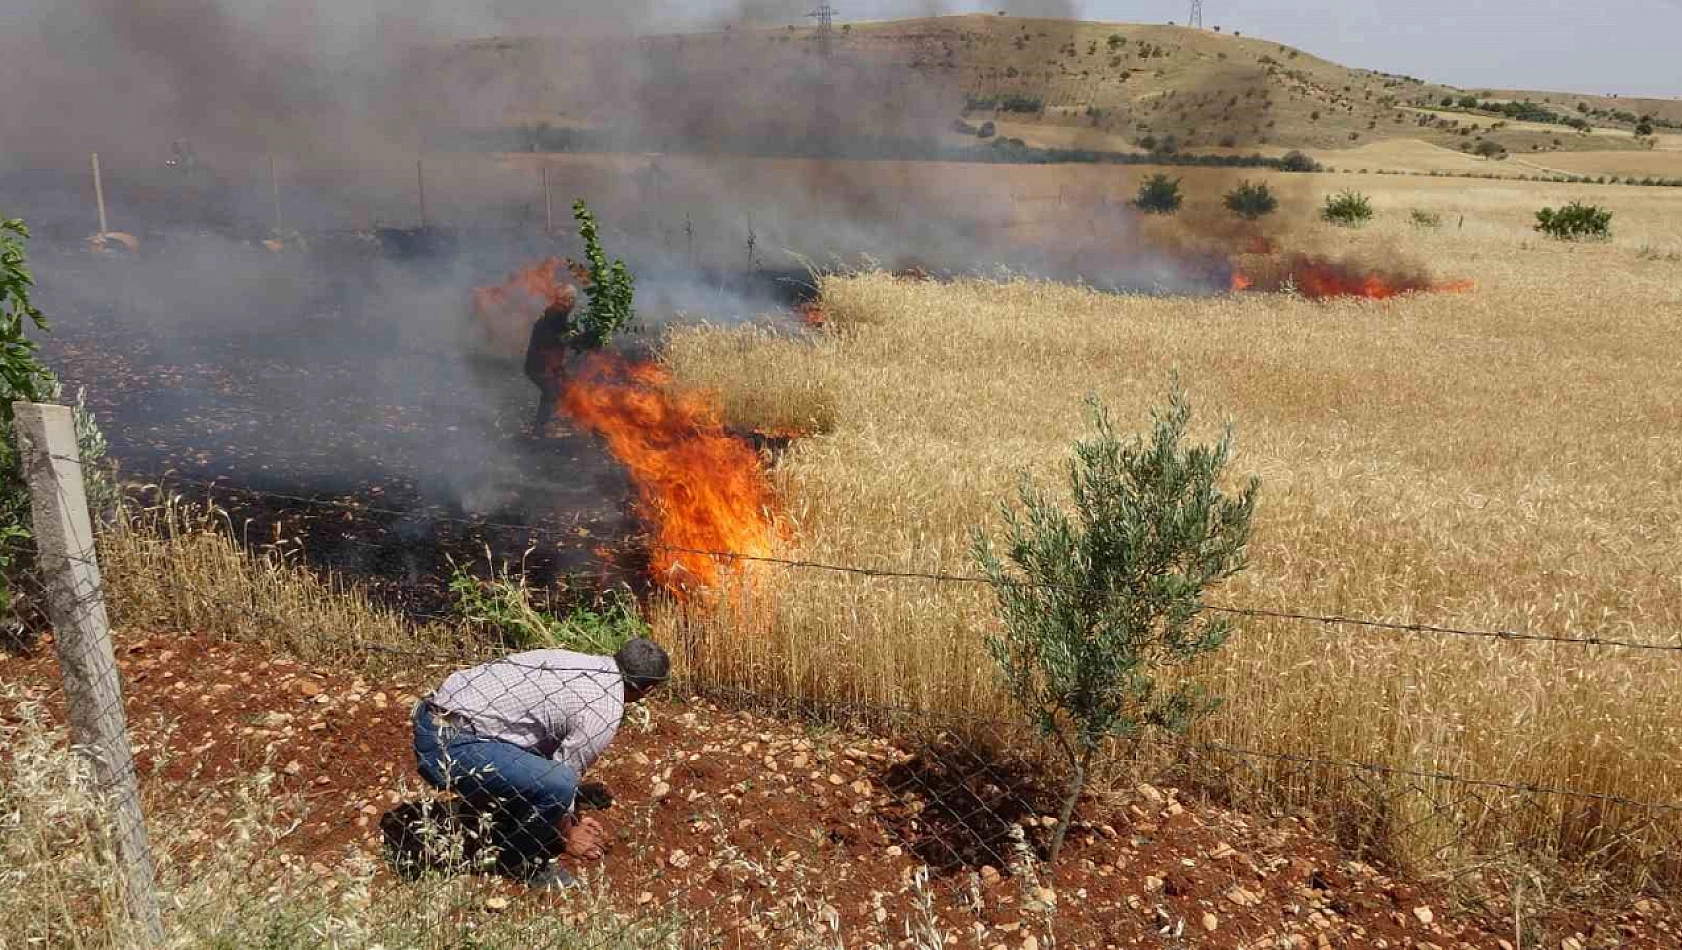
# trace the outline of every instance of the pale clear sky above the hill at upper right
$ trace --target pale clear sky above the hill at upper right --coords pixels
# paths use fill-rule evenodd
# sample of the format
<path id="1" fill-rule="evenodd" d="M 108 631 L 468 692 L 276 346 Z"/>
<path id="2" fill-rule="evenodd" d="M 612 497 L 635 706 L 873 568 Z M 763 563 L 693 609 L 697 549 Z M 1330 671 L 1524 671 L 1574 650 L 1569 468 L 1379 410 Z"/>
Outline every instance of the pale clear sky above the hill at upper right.
<path id="1" fill-rule="evenodd" d="M 1166 24 L 1184 22 L 1191 7 L 1189 0 L 831 2 L 843 20 L 1038 5 L 1073 8 L 1087 20 Z M 1342 66 L 1450 86 L 1682 96 L 1682 0 L 1204 0 L 1203 22 Z"/>

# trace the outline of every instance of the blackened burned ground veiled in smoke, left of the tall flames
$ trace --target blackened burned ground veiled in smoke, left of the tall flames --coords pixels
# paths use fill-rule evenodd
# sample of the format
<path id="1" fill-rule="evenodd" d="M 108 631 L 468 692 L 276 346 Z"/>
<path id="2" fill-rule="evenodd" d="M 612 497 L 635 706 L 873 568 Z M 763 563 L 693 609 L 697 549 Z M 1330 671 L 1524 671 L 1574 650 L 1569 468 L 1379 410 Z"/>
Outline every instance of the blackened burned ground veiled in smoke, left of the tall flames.
<path id="1" fill-rule="evenodd" d="M 247 545 L 299 548 L 383 602 L 444 609 L 452 565 L 506 563 L 584 592 L 639 585 L 627 474 L 565 420 L 533 437 L 535 387 L 474 336 L 474 282 L 535 249 L 471 259 L 463 244 L 410 232 L 279 254 L 210 235 L 138 256 L 42 245 L 42 351 L 66 398 L 84 392 L 121 478 L 153 488 L 141 498 L 212 501 Z M 799 293 L 754 282 L 764 299 Z"/>

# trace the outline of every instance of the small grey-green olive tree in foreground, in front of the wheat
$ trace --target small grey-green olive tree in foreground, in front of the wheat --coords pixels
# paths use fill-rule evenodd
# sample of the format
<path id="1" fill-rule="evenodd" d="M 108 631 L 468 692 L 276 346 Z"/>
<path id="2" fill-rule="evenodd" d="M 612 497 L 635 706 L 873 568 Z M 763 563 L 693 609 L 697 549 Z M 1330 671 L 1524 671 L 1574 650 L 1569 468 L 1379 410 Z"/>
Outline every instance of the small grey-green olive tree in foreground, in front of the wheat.
<path id="1" fill-rule="evenodd" d="M 1196 684 L 1159 678 L 1226 642 L 1230 622 L 1203 610 L 1203 594 L 1243 570 L 1258 491 L 1255 478 L 1236 496 L 1218 488 L 1233 434 L 1186 444 L 1191 405 L 1177 382 L 1149 439 L 1122 441 L 1105 409 L 1088 405 L 1097 432 L 1075 442 L 1073 509 L 1024 479 L 1021 506 L 1002 506 L 1002 552 L 974 533 L 1002 620 L 987 651 L 1071 768 L 1051 863 L 1107 740 L 1184 731 L 1214 708 Z"/>

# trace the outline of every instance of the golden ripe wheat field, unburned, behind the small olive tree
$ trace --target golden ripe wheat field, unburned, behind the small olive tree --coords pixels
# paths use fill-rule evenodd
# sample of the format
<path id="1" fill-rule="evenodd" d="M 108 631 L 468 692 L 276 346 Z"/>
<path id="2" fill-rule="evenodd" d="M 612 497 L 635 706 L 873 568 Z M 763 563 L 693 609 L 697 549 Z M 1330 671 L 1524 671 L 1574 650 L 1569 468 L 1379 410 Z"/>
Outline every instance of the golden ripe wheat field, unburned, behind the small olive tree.
<path id="1" fill-rule="evenodd" d="M 822 335 L 681 330 L 668 360 L 735 424 L 817 430 L 775 467 L 789 558 L 972 575 L 971 528 L 997 525 L 1019 472 L 1061 478 L 1083 397 L 1142 429 L 1177 372 L 1201 434 L 1231 420 L 1235 474 L 1262 478 L 1251 568 L 1213 602 L 1682 646 L 1682 264 L 1655 251 L 1682 247 L 1682 195 L 1317 185 L 1367 190 L 1379 220 L 1295 240 L 1477 289 L 1312 303 L 861 274 L 824 281 Z M 1529 230 L 1571 197 L 1608 203 L 1616 237 Z M 1445 225 L 1415 229 L 1410 208 Z M 737 600 L 663 620 L 701 644 L 691 673 L 706 681 L 1009 715 L 982 649 L 986 588 L 759 565 Z M 1226 698 L 1208 742 L 1652 802 L 1682 787 L 1677 652 L 1245 619 L 1196 676 Z M 1515 817 L 1494 792 L 1374 815 L 1373 784 L 1263 772 L 1235 792 L 1379 836 L 1431 827 L 1388 844 L 1435 864 L 1515 839 L 1586 858 L 1633 815 L 1549 797 Z M 1633 851 L 1600 858 L 1675 874 L 1660 854 L 1675 831 L 1643 824 L 1621 842 Z"/>

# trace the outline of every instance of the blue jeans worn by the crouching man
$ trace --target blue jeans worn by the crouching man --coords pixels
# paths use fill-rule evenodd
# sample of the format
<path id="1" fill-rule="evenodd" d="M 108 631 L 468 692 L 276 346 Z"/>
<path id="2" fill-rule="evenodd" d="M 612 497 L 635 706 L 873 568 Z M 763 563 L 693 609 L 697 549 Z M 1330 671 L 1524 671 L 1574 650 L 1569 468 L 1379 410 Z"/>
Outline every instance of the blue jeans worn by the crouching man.
<path id="1" fill-rule="evenodd" d="M 491 819 L 493 841 L 513 863 L 555 856 L 560 829 L 572 810 L 579 773 L 516 745 L 479 738 L 434 716 L 426 699 L 415 705 L 415 765 L 439 790 L 458 792 L 473 810 Z"/>

